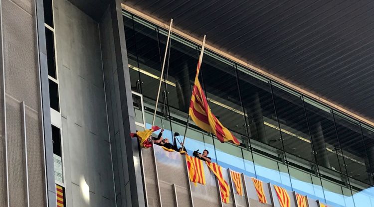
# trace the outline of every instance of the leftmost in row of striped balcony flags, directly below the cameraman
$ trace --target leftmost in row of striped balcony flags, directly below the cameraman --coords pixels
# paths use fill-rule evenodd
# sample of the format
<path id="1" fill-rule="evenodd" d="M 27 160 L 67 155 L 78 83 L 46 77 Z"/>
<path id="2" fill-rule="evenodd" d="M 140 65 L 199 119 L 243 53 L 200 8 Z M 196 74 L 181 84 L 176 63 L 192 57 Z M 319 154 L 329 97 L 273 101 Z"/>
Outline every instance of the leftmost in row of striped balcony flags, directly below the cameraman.
<path id="1" fill-rule="evenodd" d="M 191 157 L 186 155 L 187 168 L 189 174 L 189 180 L 197 185 L 197 183 L 205 185 L 205 174 L 204 166 L 202 166 L 202 161 L 196 157 Z"/>

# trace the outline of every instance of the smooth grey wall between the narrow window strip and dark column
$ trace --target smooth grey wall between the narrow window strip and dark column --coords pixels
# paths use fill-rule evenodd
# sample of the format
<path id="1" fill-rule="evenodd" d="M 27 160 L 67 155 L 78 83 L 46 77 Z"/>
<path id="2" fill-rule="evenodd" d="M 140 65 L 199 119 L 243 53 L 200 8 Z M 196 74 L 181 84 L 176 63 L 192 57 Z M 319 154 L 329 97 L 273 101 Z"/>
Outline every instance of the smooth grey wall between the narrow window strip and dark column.
<path id="1" fill-rule="evenodd" d="M 67 206 L 114 207 L 98 23 L 67 0 L 53 2 Z"/>

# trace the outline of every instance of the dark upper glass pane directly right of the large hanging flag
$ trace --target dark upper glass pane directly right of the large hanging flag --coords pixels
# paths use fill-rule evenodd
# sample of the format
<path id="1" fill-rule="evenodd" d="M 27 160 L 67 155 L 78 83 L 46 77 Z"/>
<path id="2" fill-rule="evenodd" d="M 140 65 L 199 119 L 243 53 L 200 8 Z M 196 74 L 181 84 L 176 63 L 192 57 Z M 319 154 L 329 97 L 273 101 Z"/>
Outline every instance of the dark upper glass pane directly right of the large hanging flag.
<path id="1" fill-rule="evenodd" d="M 211 111 L 223 126 L 246 135 L 235 70 L 233 63 L 206 51 L 201 64 L 201 83 L 206 91 Z M 240 137 L 236 138 L 242 141 Z"/>

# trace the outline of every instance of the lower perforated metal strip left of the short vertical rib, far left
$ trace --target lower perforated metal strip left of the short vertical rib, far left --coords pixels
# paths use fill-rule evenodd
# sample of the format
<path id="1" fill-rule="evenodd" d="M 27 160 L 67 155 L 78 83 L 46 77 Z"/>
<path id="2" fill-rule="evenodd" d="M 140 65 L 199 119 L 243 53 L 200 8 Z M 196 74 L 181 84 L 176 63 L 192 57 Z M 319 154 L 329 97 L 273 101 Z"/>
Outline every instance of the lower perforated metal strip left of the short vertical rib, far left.
<path id="1" fill-rule="evenodd" d="M 6 97 L 8 139 L 9 202 L 11 207 L 24 207 L 24 164 L 19 103 Z"/>

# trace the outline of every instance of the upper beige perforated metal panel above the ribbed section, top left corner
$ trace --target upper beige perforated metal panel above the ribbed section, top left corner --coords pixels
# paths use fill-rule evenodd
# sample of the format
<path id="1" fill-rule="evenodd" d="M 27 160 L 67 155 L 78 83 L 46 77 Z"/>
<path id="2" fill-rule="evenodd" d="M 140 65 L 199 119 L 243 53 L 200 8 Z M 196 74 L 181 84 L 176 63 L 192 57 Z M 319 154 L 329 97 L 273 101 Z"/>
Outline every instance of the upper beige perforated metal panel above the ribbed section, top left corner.
<path id="1" fill-rule="evenodd" d="M 35 22 L 9 0 L 3 6 L 5 92 L 38 110 Z"/>

